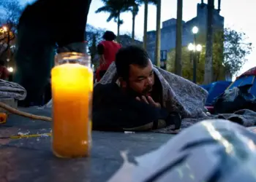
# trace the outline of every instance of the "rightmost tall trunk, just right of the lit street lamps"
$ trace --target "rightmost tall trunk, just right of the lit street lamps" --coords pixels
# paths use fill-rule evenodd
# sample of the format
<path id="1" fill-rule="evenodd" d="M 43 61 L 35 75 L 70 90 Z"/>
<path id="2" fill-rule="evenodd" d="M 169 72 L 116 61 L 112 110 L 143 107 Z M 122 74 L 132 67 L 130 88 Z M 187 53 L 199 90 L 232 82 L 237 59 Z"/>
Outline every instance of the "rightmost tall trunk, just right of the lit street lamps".
<path id="1" fill-rule="evenodd" d="M 206 37 L 206 63 L 205 63 L 205 74 L 204 84 L 210 84 L 213 78 L 213 19 L 214 19 L 214 0 L 208 0 L 207 5 L 207 37 Z"/>

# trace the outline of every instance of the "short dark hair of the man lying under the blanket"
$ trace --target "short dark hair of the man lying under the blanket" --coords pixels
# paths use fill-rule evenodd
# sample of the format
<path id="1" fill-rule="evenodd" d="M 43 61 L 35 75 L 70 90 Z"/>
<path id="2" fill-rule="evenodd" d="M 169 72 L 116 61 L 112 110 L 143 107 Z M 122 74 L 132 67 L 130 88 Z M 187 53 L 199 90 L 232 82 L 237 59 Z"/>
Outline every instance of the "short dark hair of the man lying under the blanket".
<path id="1" fill-rule="evenodd" d="M 149 56 L 148 52 L 142 47 L 131 45 L 128 47 L 122 47 L 116 53 L 116 71 L 118 77 L 122 77 L 124 80 L 129 78 L 129 66 L 138 65 L 141 68 L 148 66 Z"/>

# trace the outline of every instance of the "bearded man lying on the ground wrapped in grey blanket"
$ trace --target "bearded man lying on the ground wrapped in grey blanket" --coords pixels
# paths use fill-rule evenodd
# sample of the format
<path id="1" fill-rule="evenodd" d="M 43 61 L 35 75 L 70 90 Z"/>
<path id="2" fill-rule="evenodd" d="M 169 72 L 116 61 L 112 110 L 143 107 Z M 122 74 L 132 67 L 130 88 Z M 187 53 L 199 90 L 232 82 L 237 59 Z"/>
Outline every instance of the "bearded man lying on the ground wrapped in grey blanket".
<path id="1" fill-rule="evenodd" d="M 94 86 L 94 130 L 180 127 L 185 117 L 206 116 L 208 93 L 187 79 L 152 65 L 146 50 L 121 48 Z"/>

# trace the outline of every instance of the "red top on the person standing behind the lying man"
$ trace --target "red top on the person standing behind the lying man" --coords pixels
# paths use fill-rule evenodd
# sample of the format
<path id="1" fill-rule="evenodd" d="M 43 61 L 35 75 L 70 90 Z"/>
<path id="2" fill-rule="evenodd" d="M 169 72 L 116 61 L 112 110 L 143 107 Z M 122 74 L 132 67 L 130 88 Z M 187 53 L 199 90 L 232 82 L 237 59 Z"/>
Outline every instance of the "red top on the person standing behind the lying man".
<path id="1" fill-rule="evenodd" d="M 101 71 L 108 70 L 110 64 L 115 61 L 116 52 L 121 48 L 121 45 L 115 41 L 101 41 L 99 44 L 102 44 L 104 47 L 103 55 L 106 61 L 106 64 L 104 66 L 100 65 L 99 68 Z"/>

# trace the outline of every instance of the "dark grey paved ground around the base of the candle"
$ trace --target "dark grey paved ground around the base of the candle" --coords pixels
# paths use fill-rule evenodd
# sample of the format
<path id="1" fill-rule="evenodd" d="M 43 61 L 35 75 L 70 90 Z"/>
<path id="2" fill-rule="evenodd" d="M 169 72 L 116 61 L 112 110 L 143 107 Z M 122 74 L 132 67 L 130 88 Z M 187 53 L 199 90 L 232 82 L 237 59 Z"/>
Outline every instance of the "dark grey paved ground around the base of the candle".
<path id="1" fill-rule="evenodd" d="M 50 110 L 26 108 L 33 114 L 50 116 Z M 49 122 L 10 115 L 0 125 L 0 137 L 18 132 L 44 133 Z M 91 157 L 58 159 L 50 150 L 50 137 L 0 139 L 0 182 L 83 182 L 107 181 L 122 164 L 120 151 L 129 150 L 129 160 L 157 149 L 172 135 L 154 132 L 125 134 L 97 132 L 92 135 Z"/>

